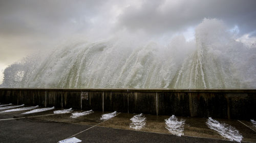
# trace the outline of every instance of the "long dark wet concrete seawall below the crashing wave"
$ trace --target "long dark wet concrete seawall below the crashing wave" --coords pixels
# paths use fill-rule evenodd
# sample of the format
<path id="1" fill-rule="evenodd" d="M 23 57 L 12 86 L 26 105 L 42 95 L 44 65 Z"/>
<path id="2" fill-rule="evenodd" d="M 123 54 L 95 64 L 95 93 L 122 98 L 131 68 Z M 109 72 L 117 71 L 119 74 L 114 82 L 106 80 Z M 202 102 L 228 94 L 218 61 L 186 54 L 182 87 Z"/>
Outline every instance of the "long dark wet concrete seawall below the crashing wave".
<path id="1" fill-rule="evenodd" d="M 256 90 L 0 89 L 0 103 L 152 115 L 256 119 Z"/>

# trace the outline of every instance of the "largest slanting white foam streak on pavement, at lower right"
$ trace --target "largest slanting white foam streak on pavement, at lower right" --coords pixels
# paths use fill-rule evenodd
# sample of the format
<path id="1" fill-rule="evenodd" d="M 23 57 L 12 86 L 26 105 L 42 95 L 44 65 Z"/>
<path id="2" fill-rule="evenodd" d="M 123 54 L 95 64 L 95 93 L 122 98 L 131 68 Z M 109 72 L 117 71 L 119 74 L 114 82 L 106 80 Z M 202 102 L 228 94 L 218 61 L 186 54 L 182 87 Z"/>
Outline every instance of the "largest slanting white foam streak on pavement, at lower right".
<path id="1" fill-rule="evenodd" d="M 220 123 L 219 121 L 211 119 L 210 117 L 207 120 L 206 125 L 210 129 L 216 130 L 220 135 L 229 139 L 230 141 L 241 142 L 241 140 L 243 139 L 243 136 L 236 128 L 225 123 Z"/>

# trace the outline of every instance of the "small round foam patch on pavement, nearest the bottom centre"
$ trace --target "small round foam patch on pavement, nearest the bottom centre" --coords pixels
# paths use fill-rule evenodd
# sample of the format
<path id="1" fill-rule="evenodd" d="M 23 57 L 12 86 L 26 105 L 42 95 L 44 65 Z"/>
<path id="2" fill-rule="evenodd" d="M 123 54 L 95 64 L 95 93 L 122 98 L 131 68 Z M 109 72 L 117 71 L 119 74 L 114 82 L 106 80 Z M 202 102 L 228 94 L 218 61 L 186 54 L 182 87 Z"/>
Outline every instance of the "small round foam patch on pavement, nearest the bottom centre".
<path id="1" fill-rule="evenodd" d="M 140 130 L 146 125 L 146 118 L 143 116 L 143 113 L 133 116 L 130 120 L 132 121 L 130 124 L 132 129 Z"/>

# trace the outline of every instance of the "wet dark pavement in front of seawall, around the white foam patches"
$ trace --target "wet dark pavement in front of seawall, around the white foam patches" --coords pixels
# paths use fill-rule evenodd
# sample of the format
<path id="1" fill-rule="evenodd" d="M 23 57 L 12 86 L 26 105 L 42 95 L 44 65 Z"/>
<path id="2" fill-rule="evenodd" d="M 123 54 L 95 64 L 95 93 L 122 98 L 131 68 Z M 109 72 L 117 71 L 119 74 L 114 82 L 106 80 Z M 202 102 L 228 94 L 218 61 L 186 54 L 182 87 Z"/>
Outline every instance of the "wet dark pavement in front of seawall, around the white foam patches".
<path id="1" fill-rule="evenodd" d="M 39 107 L 44 108 L 44 107 Z M 52 109 L 23 114 L 29 110 L 2 112 L 0 108 L 0 142 L 58 142 L 77 137 L 82 142 L 234 142 L 206 125 L 206 118 L 177 117 L 184 120 L 183 135 L 177 136 L 166 129 L 165 119 L 170 116 L 144 115 L 145 126 L 130 128 L 130 120 L 137 114 L 119 113 L 111 119 L 100 120 L 105 113 L 94 111 L 89 115 L 72 118 L 69 113 L 54 114 Z M 215 119 L 236 128 L 242 142 L 256 142 L 256 127 L 250 121 Z"/>

